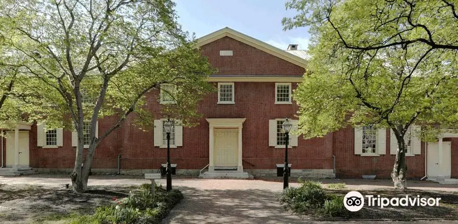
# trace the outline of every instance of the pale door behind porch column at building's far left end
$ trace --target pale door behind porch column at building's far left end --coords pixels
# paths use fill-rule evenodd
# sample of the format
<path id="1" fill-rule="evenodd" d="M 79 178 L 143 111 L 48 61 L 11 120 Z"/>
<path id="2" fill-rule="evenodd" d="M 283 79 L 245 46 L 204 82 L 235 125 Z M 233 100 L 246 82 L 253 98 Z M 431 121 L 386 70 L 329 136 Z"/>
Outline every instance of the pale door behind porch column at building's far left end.
<path id="1" fill-rule="evenodd" d="M 7 131 L 6 138 L 6 165 L 14 165 L 16 155 L 14 144 L 14 131 Z M 19 164 L 22 167 L 29 166 L 28 131 L 19 131 Z"/>

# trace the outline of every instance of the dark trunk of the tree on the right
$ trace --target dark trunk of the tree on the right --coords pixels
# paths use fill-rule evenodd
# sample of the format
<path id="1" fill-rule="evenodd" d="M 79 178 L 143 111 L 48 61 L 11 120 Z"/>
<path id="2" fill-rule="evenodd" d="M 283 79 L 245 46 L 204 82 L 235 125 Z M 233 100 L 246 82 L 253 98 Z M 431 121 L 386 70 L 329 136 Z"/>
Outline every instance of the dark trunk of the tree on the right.
<path id="1" fill-rule="evenodd" d="M 398 145 L 398 150 L 396 153 L 396 159 L 394 160 L 394 167 L 393 167 L 393 171 L 391 172 L 391 178 L 393 179 L 394 189 L 406 190 L 407 189 L 407 179 L 406 179 L 407 165 L 406 165 L 406 153 L 405 153 L 406 146 L 404 144 L 403 137 L 398 138 L 397 145 Z"/>

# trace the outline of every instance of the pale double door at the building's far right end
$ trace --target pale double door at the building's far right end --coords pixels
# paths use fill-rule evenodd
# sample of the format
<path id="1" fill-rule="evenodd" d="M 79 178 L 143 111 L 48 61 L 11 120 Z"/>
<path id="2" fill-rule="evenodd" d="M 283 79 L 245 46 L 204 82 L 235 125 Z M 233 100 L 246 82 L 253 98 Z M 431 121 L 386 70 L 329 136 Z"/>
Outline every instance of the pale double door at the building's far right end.
<path id="1" fill-rule="evenodd" d="M 442 165 L 439 160 L 439 144 L 428 143 L 427 150 L 428 178 L 450 177 L 451 174 L 451 142 L 442 142 Z"/>

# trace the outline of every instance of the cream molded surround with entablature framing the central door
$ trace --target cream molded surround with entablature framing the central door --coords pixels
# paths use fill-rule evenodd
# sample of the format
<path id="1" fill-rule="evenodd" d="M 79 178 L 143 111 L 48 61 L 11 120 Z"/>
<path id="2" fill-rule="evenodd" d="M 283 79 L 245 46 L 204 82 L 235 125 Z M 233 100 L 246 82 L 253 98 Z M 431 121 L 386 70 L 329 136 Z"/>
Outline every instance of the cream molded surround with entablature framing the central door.
<path id="1" fill-rule="evenodd" d="M 215 146 L 215 128 L 237 128 L 238 133 L 238 164 L 237 164 L 237 171 L 243 172 L 243 165 L 242 165 L 242 128 L 243 123 L 245 122 L 246 118 L 207 118 L 206 119 L 209 126 L 209 166 L 208 171 L 214 172 L 215 165 L 214 165 L 214 157 L 213 151 Z"/>

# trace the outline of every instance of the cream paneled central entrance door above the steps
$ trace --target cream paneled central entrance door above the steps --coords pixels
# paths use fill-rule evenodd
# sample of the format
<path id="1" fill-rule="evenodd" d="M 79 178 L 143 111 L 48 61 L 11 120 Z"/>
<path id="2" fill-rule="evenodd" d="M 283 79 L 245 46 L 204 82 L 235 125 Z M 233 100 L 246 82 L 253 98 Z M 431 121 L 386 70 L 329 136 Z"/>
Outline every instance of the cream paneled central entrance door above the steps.
<path id="1" fill-rule="evenodd" d="M 214 165 L 238 165 L 238 129 L 215 129 Z"/>

